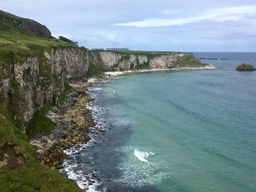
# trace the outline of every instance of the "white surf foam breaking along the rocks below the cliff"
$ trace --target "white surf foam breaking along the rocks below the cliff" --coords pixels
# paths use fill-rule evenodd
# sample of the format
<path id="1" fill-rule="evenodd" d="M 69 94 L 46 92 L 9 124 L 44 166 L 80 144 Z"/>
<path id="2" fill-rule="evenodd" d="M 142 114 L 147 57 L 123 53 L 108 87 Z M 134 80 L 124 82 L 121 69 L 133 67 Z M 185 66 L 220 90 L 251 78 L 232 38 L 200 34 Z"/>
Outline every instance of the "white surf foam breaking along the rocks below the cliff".
<path id="1" fill-rule="evenodd" d="M 108 109 L 104 107 L 99 107 L 97 104 L 94 103 L 97 101 L 97 91 L 102 91 L 102 88 L 88 88 L 87 93 L 91 95 L 91 97 L 94 98 L 94 101 L 91 101 L 89 104 L 86 104 L 86 108 L 91 111 L 91 116 L 94 119 L 95 126 L 90 127 L 90 133 L 89 137 L 91 138 L 89 142 L 86 143 L 80 143 L 76 145 L 75 147 L 70 147 L 67 150 L 64 150 L 64 153 L 70 156 L 70 158 L 75 159 L 75 155 L 77 153 L 80 153 L 80 155 L 85 154 L 84 151 L 86 151 L 89 147 L 92 147 L 97 142 L 97 137 L 99 134 L 102 134 L 102 131 L 108 131 L 108 123 L 105 121 L 105 118 L 103 115 L 107 112 Z M 89 159 L 93 159 L 89 157 Z M 91 164 L 94 164 L 92 161 Z M 72 160 L 65 160 L 64 161 L 64 169 L 62 169 L 63 172 L 67 174 L 67 177 L 70 180 L 75 181 L 78 186 L 86 190 L 88 192 L 99 192 L 96 190 L 98 185 L 101 185 L 97 179 L 95 179 L 95 175 L 98 175 L 98 172 L 95 170 L 91 170 L 90 173 L 84 173 L 82 172 L 82 168 L 84 165 L 82 164 L 75 164 Z M 61 170 L 60 170 L 61 171 Z M 101 191 L 106 191 L 106 188 L 101 189 Z"/>

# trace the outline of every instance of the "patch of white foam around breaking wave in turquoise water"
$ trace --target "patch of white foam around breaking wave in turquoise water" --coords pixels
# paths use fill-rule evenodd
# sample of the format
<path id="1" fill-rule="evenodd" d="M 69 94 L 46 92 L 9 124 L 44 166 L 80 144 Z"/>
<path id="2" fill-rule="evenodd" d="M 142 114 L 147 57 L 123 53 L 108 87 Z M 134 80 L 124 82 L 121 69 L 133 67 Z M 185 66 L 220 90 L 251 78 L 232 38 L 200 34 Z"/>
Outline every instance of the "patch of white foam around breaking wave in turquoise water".
<path id="1" fill-rule="evenodd" d="M 127 183 L 132 187 L 143 187 L 145 185 L 156 185 L 161 180 L 170 177 L 170 173 L 165 172 L 167 163 L 164 161 L 165 157 L 158 157 L 157 161 L 154 159 L 147 159 L 150 155 L 154 155 L 150 148 L 141 147 L 121 147 L 120 150 L 124 153 L 121 163 L 118 164 L 118 169 L 123 173 L 116 182 Z M 150 160 L 150 161 L 148 161 Z"/>

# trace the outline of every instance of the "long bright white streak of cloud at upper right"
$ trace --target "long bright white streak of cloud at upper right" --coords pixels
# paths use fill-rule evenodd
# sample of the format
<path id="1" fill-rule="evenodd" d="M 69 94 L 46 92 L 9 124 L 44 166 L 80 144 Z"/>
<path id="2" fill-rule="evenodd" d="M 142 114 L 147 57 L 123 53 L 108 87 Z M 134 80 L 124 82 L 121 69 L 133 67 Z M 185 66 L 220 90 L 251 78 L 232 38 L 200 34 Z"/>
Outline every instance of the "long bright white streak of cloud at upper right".
<path id="1" fill-rule="evenodd" d="M 142 21 L 135 21 L 129 23 L 116 23 L 113 26 L 134 26 L 134 27 L 162 27 L 162 26 L 179 26 L 188 23 L 197 23 L 201 20 L 215 20 L 218 22 L 224 22 L 227 20 L 241 20 L 244 19 L 246 14 L 255 14 L 255 6 L 244 7 L 225 7 L 221 9 L 214 9 L 211 12 L 207 12 L 204 15 L 190 17 L 190 18 L 178 18 L 178 19 L 148 19 Z"/>

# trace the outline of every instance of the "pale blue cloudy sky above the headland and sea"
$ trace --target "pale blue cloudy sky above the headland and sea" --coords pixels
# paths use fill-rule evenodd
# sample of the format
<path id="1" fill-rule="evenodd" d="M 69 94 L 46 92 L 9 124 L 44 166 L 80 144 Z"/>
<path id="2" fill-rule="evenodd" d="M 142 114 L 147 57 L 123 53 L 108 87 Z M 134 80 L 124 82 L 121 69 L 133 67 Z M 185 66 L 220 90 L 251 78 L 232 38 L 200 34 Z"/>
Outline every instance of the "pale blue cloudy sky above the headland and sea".
<path id="1" fill-rule="evenodd" d="M 256 52 L 255 0 L 1 0 L 89 48 Z"/>

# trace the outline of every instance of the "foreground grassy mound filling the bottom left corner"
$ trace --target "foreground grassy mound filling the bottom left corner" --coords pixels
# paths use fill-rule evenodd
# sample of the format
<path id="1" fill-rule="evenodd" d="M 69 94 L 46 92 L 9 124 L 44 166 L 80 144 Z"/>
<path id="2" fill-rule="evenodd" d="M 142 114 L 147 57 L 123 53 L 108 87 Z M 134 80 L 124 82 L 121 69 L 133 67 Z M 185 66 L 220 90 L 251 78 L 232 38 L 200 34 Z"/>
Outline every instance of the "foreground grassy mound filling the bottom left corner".
<path id="1" fill-rule="evenodd" d="M 0 191 L 82 191 L 56 170 L 37 162 L 26 164 L 18 171 L 0 170 Z"/>

